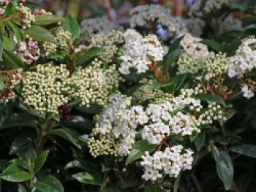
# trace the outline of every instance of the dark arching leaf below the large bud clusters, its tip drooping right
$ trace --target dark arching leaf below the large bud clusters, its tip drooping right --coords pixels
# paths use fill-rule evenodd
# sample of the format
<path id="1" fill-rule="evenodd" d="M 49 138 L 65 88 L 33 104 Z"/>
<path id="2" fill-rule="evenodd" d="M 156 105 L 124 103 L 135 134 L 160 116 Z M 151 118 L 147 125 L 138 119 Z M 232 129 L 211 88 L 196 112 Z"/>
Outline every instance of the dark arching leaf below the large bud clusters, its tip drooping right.
<path id="1" fill-rule="evenodd" d="M 75 147 L 78 147 L 78 149 L 82 148 L 78 140 L 79 134 L 75 130 L 72 130 L 70 128 L 58 128 L 53 131 L 50 131 L 49 134 L 67 140 L 68 142 L 75 145 Z"/>

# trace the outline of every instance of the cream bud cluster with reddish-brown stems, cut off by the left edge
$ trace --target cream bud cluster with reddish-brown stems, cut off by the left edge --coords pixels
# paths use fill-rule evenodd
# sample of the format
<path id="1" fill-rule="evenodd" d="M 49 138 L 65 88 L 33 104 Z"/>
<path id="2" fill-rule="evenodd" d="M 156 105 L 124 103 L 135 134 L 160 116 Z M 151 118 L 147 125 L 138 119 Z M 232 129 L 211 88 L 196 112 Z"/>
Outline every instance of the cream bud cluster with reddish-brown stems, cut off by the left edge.
<path id="1" fill-rule="evenodd" d="M 7 103 L 15 98 L 13 88 L 22 80 L 23 71 L 21 69 L 0 72 L 0 83 L 3 83 L 3 89 L 0 90 L 0 104 Z"/>

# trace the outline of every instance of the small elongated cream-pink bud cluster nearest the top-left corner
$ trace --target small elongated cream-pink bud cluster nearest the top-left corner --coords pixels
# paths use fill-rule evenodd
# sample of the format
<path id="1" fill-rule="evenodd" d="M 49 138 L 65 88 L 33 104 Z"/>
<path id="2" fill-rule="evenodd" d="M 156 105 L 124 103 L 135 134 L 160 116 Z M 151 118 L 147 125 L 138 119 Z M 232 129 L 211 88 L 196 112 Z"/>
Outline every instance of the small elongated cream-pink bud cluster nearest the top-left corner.
<path id="1" fill-rule="evenodd" d="M 17 7 L 17 10 L 22 28 L 31 28 L 31 23 L 35 21 L 35 18 L 29 7 L 20 4 L 20 6 Z"/>

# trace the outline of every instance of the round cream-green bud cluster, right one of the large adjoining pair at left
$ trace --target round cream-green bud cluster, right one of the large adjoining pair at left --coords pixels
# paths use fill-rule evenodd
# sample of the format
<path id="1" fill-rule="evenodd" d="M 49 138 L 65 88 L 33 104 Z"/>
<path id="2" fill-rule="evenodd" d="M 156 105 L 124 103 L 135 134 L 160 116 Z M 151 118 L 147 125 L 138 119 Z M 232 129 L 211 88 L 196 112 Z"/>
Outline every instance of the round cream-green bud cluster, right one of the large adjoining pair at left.
<path id="1" fill-rule="evenodd" d="M 95 60 L 85 69 L 78 67 L 69 78 L 69 95 L 72 99 L 81 99 L 80 105 L 105 105 L 110 93 L 118 88 L 118 82 L 122 79 L 116 66 L 111 65 L 108 69 L 102 69 L 101 66 L 102 61 Z"/>

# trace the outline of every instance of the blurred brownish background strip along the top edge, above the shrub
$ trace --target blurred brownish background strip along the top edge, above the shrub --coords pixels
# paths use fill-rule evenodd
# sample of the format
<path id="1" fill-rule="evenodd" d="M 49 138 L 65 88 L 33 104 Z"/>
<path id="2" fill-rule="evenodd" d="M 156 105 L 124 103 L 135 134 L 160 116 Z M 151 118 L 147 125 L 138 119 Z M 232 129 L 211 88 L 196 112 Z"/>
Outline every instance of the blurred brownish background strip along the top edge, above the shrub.
<path id="1" fill-rule="evenodd" d="M 165 4 L 173 10 L 173 15 L 180 16 L 194 0 L 32 0 L 41 4 L 48 11 L 64 16 L 69 13 L 78 20 L 108 15 L 117 23 L 125 22 L 129 9 L 138 4 Z"/>

